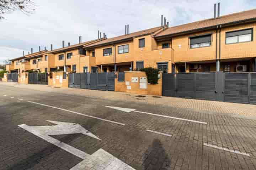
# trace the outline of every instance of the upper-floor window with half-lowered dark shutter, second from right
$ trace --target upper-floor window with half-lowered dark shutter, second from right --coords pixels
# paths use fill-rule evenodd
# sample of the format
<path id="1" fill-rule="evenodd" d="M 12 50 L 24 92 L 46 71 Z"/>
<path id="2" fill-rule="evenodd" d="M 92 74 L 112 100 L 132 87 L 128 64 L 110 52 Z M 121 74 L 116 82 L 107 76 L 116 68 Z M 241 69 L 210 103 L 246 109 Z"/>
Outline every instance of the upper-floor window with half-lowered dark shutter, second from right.
<path id="1" fill-rule="evenodd" d="M 212 34 L 191 37 L 190 48 L 194 49 L 194 48 L 200 48 L 200 47 L 208 47 L 211 45 L 211 41 L 212 41 Z"/>

